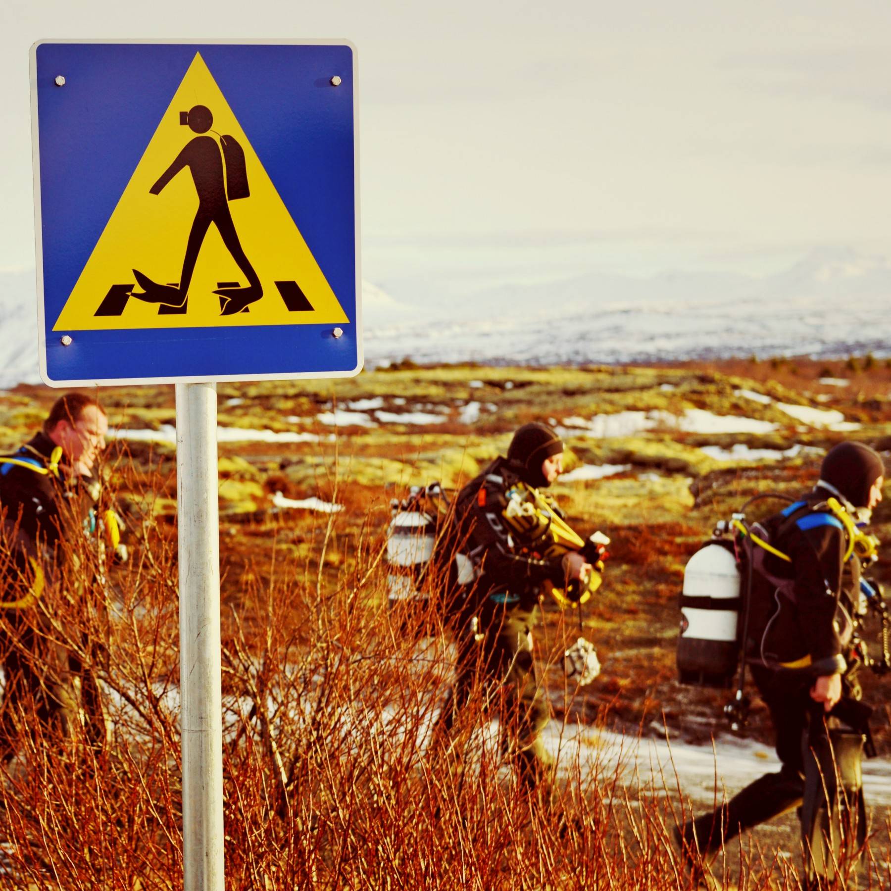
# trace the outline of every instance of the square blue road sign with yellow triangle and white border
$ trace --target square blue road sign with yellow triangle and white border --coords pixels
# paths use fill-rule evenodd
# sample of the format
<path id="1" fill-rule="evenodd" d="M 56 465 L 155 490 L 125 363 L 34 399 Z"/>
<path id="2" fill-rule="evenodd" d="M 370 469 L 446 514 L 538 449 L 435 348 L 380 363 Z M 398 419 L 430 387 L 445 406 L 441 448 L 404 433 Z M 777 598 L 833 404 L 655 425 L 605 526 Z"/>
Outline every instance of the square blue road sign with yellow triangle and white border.
<path id="1" fill-rule="evenodd" d="M 50 386 L 362 366 L 356 51 L 31 49 Z"/>

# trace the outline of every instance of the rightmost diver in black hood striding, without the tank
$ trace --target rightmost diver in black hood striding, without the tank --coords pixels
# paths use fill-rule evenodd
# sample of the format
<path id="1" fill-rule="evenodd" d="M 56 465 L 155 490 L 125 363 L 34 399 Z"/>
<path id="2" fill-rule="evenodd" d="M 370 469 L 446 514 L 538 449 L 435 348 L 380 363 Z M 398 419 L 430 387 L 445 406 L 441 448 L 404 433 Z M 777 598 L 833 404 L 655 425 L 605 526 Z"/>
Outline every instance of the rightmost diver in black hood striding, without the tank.
<path id="1" fill-rule="evenodd" d="M 702 868 L 700 858 L 740 831 L 794 807 L 805 848 L 805 888 L 829 887 L 836 863 L 862 845 L 860 759 L 871 709 L 860 702 L 858 662 L 851 658 L 851 616 L 861 591 L 851 529 L 860 509 L 881 501 L 884 472 L 869 446 L 834 446 L 813 492 L 763 524 L 776 550 L 754 548 L 745 645 L 782 766 L 714 813 L 675 830 L 694 871 Z"/>

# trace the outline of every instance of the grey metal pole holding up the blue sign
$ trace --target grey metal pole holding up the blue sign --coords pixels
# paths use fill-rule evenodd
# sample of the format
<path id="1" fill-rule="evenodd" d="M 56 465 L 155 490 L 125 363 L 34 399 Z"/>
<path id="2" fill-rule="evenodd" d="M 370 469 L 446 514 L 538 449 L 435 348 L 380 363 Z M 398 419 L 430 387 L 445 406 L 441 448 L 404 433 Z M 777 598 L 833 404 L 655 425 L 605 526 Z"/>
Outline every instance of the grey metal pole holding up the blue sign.
<path id="1" fill-rule="evenodd" d="M 223 891 L 217 384 L 176 384 L 184 891 Z"/>

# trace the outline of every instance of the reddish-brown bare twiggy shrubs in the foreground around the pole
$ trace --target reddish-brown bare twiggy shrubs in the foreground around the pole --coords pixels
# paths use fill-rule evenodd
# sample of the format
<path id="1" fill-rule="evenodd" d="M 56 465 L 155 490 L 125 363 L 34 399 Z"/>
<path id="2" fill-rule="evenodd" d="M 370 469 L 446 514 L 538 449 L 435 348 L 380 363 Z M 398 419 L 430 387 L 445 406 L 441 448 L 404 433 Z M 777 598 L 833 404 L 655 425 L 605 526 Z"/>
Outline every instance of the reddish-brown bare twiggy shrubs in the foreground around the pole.
<path id="1" fill-rule="evenodd" d="M 109 732 L 63 738 L 25 704 L 0 785 L 0 887 L 181 887 L 176 558 L 144 520 L 107 584 L 94 573 L 77 598 L 53 586 L 30 617 L 98 683 Z M 566 746 L 545 806 L 492 740 L 485 687 L 432 740 L 452 670 L 440 610 L 388 611 L 373 514 L 347 537 L 335 516 L 307 535 L 298 560 L 274 536 L 224 612 L 227 887 L 694 887 L 674 852 L 686 808 L 672 776 L 627 789 Z M 80 539 L 67 558 L 99 568 Z M 746 887 L 797 887 L 789 862 L 741 857 Z"/>

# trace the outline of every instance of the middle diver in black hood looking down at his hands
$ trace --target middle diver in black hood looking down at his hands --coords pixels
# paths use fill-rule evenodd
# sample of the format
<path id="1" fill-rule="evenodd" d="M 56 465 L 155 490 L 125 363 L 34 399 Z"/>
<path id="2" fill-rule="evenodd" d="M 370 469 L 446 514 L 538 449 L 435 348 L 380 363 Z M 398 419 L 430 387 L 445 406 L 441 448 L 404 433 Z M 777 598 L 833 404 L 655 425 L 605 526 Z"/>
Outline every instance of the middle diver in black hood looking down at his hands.
<path id="1" fill-rule="evenodd" d="M 531 493 L 562 518 L 552 499 L 537 491 L 562 470 L 560 437 L 545 424 L 526 424 L 514 434 L 507 457 L 496 458 L 455 499 L 454 535 L 462 553 L 454 558 L 458 580 L 450 587 L 457 593 L 449 601 L 455 613 L 457 679 L 440 723 L 446 733 L 451 730 L 456 712 L 467 706 L 474 684 L 482 680 L 486 702 L 495 707 L 505 741 L 511 742 L 520 780 L 545 805 L 552 803 L 552 764 L 542 731 L 550 712 L 532 653 L 539 594 L 550 585 L 568 590 L 570 583 L 581 582 L 584 589 L 599 574 L 579 552 L 542 557 L 524 548 L 511 527 L 511 507 L 527 503 L 519 499 Z"/>

